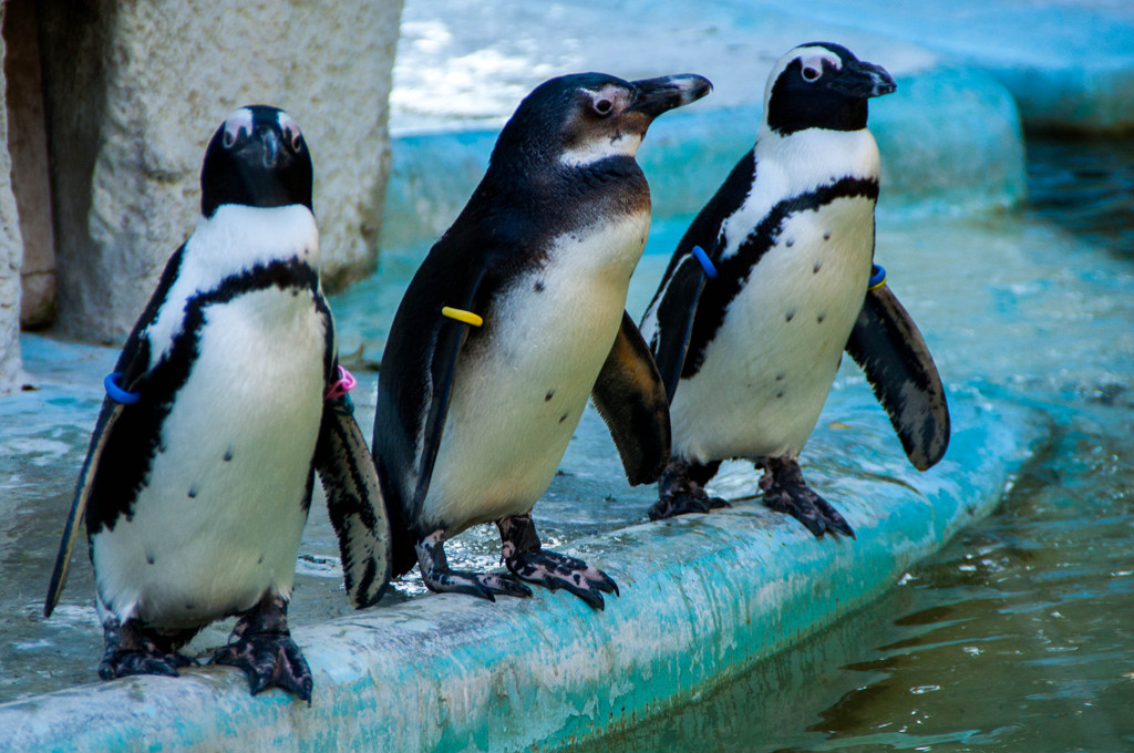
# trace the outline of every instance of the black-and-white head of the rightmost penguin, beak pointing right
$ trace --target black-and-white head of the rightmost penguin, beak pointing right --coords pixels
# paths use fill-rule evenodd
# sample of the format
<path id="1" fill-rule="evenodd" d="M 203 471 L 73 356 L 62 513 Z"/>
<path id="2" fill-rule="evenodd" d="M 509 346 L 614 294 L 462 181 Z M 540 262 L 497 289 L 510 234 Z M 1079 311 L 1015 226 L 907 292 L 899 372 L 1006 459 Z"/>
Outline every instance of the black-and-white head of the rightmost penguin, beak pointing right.
<path id="1" fill-rule="evenodd" d="M 802 44 L 779 59 L 764 90 L 764 122 L 781 136 L 805 128 L 861 130 L 866 100 L 897 86 L 880 66 L 830 42 Z"/>

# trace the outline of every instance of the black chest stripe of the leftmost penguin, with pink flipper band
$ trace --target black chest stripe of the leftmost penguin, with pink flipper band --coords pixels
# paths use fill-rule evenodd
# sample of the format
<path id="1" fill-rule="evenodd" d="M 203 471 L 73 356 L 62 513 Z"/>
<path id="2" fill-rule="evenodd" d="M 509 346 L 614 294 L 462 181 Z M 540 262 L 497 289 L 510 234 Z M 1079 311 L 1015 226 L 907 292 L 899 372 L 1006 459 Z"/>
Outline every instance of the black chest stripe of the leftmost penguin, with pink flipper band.
<path id="1" fill-rule="evenodd" d="M 198 355 L 205 310 L 223 304 L 247 293 L 279 288 L 307 291 L 314 298 L 315 310 L 328 320 L 328 344 L 324 361 L 330 372 L 332 330 L 327 304 L 319 291 L 319 274 L 308 264 L 293 259 L 256 265 L 239 274 L 225 278 L 212 290 L 189 298 L 185 319 L 174 337 L 169 350 L 135 386 L 142 396 L 138 403 L 126 406 L 113 426 L 99 467 L 95 469 L 91 502 L 86 510 L 87 538 L 103 527 L 113 530 L 120 515 L 133 516 L 134 500 L 150 482 L 153 458 L 164 451 L 160 447 L 161 425 L 174 407 L 174 399 L 189 378 Z M 156 308 L 152 312 L 156 314 Z M 152 323 L 152 319 L 146 324 Z M 146 342 L 143 338 L 143 342 Z M 264 389 L 271 389 L 265 386 Z M 239 421 L 239 416 L 234 416 Z M 308 488 L 311 482 L 308 480 Z M 188 494 L 188 490 L 186 490 Z"/>

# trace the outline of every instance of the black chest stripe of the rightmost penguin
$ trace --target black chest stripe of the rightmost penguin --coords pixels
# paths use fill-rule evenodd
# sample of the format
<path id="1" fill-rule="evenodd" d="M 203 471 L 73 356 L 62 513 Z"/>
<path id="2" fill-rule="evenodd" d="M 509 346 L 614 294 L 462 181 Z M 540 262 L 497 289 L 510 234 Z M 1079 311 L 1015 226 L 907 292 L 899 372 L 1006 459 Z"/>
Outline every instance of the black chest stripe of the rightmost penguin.
<path id="1" fill-rule="evenodd" d="M 744 288 L 753 268 L 776 245 L 787 218 L 799 212 L 818 211 L 838 198 L 863 197 L 878 201 L 878 180 L 840 178 L 814 191 L 785 198 L 754 227 L 728 259 L 714 260 L 717 279 L 706 280 L 693 319 L 689 346 L 682 367 L 682 379 L 695 375 L 704 363 L 705 350 L 725 321 L 725 313 Z M 759 327 L 759 322 L 753 322 Z"/>

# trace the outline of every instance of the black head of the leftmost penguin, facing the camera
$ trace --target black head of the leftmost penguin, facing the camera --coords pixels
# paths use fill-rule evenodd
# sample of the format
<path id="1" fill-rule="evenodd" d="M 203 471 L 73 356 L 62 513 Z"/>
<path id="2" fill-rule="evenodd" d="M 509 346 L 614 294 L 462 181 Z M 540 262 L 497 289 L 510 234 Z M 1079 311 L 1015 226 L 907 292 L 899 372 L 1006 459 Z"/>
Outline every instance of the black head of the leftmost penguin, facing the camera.
<path id="1" fill-rule="evenodd" d="M 201 166 L 201 213 L 221 204 L 311 209 L 312 169 L 307 144 L 284 110 L 251 104 L 236 110 L 205 150 Z"/>

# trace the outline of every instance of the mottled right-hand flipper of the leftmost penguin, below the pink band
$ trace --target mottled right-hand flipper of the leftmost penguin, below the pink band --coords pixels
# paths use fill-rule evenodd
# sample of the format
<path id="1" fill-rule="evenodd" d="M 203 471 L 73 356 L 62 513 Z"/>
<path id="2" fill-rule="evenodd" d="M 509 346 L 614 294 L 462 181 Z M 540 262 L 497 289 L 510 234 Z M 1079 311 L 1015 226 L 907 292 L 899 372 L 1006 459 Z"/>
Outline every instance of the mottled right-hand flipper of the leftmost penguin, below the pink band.
<path id="1" fill-rule="evenodd" d="M 323 404 L 315 471 L 339 540 L 347 599 L 355 609 L 372 607 L 390 582 L 390 524 L 374 460 L 347 396 Z"/>

